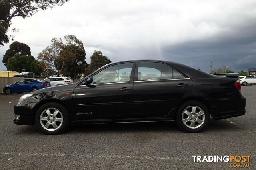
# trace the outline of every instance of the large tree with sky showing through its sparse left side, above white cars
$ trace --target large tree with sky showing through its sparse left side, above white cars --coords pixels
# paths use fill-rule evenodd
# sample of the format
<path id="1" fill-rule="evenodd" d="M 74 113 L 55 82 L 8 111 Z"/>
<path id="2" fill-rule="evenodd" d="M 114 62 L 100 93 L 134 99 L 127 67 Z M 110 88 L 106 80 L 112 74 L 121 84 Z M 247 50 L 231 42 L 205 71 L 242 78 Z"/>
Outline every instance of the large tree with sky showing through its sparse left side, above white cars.
<path id="1" fill-rule="evenodd" d="M 64 40 L 53 38 L 51 45 L 38 54 L 38 59 L 47 72 L 56 70 L 58 76 L 81 76 L 87 66 L 84 45 L 74 35 L 66 35 Z"/>

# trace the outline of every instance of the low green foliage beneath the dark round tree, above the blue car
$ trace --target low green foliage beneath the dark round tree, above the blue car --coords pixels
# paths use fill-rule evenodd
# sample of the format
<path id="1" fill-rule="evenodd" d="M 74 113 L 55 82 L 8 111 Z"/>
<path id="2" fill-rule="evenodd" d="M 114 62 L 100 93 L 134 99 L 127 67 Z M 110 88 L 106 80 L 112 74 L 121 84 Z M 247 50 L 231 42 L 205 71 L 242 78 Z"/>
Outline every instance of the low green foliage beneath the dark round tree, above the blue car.
<path id="1" fill-rule="evenodd" d="M 33 56 L 29 55 L 18 55 L 15 54 L 14 57 L 8 58 L 7 70 L 20 72 L 20 68 L 25 69 L 26 72 L 34 72 L 40 75 L 42 72 L 42 67 L 40 62 L 37 61 Z"/>

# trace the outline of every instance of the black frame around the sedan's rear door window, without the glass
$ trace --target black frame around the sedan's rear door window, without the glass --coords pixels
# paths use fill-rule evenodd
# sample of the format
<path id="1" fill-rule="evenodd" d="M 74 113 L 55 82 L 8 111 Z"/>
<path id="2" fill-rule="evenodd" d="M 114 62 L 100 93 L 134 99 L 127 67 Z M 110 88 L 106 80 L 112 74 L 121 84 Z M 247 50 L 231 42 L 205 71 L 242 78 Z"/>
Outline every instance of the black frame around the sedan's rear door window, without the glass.
<path id="1" fill-rule="evenodd" d="M 161 64 L 165 64 L 166 66 L 170 67 L 172 69 L 172 79 L 160 79 L 160 80 L 138 80 L 138 70 L 139 70 L 139 63 L 161 63 Z M 185 78 L 178 78 L 178 79 L 174 79 L 173 78 L 173 70 L 176 70 L 178 73 L 180 73 L 182 76 L 184 76 Z M 160 62 L 160 61 L 136 61 L 136 68 L 135 68 L 135 74 L 134 74 L 134 82 L 146 82 L 146 81 L 161 81 L 161 80 L 184 80 L 184 79 L 190 79 L 188 78 L 188 76 L 186 76 L 185 74 L 183 74 L 182 72 L 180 72 L 179 70 L 177 70 L 176 68 L 174 68 L 173 66 L 164 63 L 164 62 Z"/>

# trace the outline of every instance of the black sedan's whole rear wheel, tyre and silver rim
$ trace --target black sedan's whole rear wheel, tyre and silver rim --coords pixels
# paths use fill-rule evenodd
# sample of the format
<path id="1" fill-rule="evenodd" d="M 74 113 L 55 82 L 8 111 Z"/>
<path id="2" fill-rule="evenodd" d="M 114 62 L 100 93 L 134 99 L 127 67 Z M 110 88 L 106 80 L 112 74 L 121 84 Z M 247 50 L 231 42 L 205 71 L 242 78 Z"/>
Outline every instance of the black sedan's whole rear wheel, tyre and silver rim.
<path id="1" fill-rule="evenodd" d="M 195 111 L 193 110 L 194 108 L 196 108 Z M 198 133 L 208 125 L 210 114 L 203 103 L 197 100 L 190 100 L 180 105 L 175 119 L 178 127 L 183 131 Z"/>

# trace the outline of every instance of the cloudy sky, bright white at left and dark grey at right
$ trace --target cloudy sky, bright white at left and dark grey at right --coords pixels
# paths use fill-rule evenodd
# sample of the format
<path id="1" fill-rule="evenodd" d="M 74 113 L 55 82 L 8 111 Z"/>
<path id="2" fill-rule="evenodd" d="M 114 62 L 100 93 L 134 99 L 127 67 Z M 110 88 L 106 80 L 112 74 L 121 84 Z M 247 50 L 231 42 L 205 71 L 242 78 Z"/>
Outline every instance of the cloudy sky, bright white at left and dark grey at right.
<path id="1" fill-rule="evenodd" d="M 256 67 L 255 0 L 70 0 L 25 20 L 14 41 L 36 58 L 53 37 L 74 34 L 86 61 L 101 50 L 113 61 L 166 59 L 209 72 L 209 63 L 230 70 Z M 10 42 L 11 43 L 11 42 Z M 0 47 L 2 57 L 9 44 Z"/>

